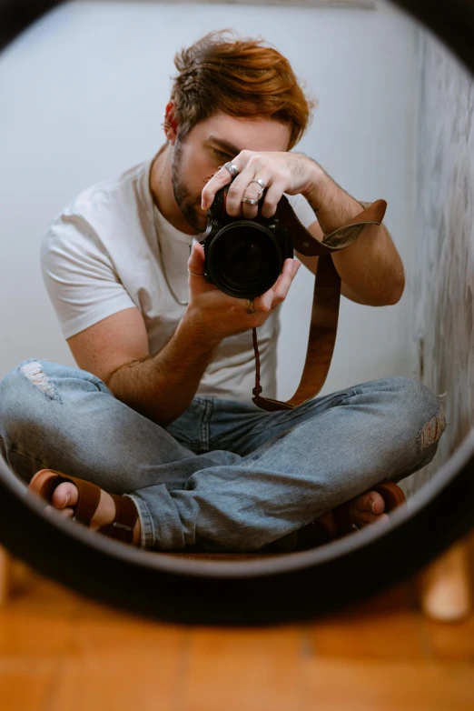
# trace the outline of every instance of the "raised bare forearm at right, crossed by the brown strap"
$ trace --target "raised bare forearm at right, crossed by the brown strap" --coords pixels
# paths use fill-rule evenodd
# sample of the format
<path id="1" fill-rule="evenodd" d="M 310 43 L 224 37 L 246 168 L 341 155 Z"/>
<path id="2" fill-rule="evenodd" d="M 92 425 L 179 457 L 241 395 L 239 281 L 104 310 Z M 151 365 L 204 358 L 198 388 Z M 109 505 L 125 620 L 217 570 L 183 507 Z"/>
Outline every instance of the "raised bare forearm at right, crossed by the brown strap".
<path id="1" fill-rule="evenodd" d="M 305 195 L 324 234 L 353 217 L 363 206 L 337 185 L 315 161 L 314 179 Z M 354 301 L 367 305 L 390 305 L 399 301 L 405 285 L 403 265 L 384 225 L 366 225 L 359 239 L 332 255 L 341 276 L 342 290 Z"/>

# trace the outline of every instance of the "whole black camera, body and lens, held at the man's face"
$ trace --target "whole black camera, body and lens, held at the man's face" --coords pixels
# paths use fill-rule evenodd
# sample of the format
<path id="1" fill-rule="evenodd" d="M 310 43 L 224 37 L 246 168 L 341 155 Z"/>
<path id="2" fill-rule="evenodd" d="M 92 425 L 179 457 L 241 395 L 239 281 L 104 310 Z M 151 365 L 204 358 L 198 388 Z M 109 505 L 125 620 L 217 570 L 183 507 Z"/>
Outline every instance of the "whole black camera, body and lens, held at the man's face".
<path id="1" fill-rule="evenodd" d="M 259 214 L 252 220 L 227 215 L 228 189 L 225 185 L 216 193 L 207 212 L 201 240 L 204 273 L 225 294 L 252 299 L 276 282 L 285 259 L 293 257 L 293 245 L 280 223 L 278 208 L 272 217 Z"/>

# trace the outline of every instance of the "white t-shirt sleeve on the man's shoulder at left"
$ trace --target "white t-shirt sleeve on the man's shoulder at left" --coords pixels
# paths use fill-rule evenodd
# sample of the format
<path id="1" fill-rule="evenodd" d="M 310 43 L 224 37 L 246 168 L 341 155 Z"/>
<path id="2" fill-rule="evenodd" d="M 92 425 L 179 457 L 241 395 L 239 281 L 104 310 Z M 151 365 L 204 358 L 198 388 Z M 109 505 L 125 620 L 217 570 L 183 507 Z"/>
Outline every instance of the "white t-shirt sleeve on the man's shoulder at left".
<path id="1" fill-rule="evenodd" d="M 60 215 L 44 236 L 41 269 L 64 338 L 135 306 L 94 227 Z"/>

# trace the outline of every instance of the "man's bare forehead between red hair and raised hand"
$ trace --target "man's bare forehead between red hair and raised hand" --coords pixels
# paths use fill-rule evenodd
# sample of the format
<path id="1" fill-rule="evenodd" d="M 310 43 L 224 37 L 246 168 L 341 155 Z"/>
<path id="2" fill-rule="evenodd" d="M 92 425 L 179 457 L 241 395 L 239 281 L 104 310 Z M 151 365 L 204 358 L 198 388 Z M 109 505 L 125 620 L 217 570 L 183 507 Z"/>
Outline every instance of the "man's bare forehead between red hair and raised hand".
<path id="1" fill-rule="evenodd" d="M 215 145 L 226 143 L 237 155 L 249 151 L 286 151 L 290 143 L 290 127 L 265 118 L 235 118 L 216 114 L 194 126 L 204 142 Z"/>

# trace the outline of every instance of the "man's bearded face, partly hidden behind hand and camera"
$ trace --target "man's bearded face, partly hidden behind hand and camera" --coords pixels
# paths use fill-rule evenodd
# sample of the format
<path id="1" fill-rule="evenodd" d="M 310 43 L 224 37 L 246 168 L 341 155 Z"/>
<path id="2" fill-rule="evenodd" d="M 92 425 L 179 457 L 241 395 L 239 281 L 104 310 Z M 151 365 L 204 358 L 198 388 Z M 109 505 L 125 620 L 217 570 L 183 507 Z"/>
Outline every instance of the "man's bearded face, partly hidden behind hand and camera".
<path id="1" fill-rule="evenodd" d="M 277 121 L 252 121 L 219 113 L 195 125 L 183 142 L 178 139 L 173 146 L 174 198 L 186 221 L 204 232 L 207 213 L 201 209 L 202 188 L 205 178 L 219 165 L 242 150 L 286 151 L 289 143 L 289 126 Z"/>

